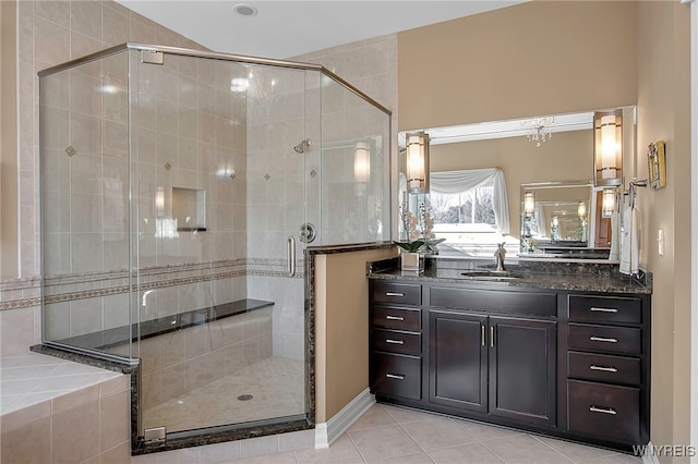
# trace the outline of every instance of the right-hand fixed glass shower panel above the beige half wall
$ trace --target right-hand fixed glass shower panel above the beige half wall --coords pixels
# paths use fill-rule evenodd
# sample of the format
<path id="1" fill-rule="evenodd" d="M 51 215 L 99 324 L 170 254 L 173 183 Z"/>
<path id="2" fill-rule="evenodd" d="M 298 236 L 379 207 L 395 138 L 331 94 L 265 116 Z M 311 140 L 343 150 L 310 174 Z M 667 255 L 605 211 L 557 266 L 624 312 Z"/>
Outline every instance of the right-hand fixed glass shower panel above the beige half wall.
<path id="1" fill-rule="evenodd" d="M 389 115 L 322 81 L 322 244 L 388 240 Z"/>

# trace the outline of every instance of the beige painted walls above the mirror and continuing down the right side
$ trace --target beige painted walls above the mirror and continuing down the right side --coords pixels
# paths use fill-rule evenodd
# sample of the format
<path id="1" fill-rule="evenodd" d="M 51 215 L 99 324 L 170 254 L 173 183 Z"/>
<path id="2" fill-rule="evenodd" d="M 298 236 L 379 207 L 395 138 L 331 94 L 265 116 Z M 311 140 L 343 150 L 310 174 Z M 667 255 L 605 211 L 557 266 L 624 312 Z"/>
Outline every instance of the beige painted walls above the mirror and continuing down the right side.
<path id="1" fill-rule="evenodd" d="M 690 444 L 689 28 L 689 5 L 673 1 L 534 1 L 398 34 L 401 131 L 637 102 L 639 178 L 647 144 L 666 141 L 669 185 L 638 198 L 654 444 Z"/>

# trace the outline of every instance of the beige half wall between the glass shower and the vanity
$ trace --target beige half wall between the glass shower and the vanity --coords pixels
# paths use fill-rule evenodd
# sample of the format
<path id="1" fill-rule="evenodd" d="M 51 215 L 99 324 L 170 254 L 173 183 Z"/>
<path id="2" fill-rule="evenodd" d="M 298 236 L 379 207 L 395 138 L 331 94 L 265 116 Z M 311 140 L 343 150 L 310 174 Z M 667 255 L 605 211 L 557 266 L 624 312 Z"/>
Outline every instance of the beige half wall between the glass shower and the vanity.
<path id="1" fill-rule="evenodd" d="M 315 422 L 326 423 L 369 387 L 366 261 L 396 248 L 315 256 Z"/>

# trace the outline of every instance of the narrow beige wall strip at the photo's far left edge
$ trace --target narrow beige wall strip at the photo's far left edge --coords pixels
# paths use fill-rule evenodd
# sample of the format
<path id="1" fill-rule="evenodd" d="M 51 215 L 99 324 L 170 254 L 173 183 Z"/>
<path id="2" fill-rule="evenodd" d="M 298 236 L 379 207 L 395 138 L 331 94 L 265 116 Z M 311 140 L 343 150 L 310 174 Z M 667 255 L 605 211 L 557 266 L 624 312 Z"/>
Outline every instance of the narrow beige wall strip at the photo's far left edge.
<path id="1" fill-rule="evenodd" d="M 0 279 L 17 277 L 16 2 L 0 2 Z"/>

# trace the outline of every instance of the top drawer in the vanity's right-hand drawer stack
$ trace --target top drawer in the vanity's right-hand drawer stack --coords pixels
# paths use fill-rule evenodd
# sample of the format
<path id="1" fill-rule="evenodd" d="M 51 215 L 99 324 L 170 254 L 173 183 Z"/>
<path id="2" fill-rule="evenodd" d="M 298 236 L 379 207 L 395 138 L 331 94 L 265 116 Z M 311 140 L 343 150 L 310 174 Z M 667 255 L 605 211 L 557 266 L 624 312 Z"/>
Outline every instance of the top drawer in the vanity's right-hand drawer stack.
<path id="1" fill-rule="evenodd" d="M 638 298 L 569 295 L 569 318 L 599 322 L 642 322 Z"/>

